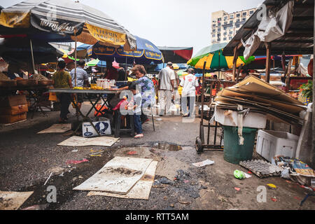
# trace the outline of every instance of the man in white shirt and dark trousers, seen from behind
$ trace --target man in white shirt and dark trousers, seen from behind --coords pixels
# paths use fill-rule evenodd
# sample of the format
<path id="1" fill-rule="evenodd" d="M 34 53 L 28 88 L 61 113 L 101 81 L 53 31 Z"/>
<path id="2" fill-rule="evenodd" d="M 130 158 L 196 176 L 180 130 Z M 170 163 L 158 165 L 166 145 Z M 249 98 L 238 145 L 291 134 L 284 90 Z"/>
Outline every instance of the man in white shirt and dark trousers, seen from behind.
<path id="1" fill-rule="evenodd" d="M 183 117 L 194 116 L 194 105 L 196 97 L 196 87 L 199 85 L 198 78 L 193 75 L 194 69 L 188 69 L 188 75 L 184 76 L 181 80 L 183 90 L 181 92 L 181 109 L 183 111 Z M 188 112 L 187 112 L 188 106 Z"/>

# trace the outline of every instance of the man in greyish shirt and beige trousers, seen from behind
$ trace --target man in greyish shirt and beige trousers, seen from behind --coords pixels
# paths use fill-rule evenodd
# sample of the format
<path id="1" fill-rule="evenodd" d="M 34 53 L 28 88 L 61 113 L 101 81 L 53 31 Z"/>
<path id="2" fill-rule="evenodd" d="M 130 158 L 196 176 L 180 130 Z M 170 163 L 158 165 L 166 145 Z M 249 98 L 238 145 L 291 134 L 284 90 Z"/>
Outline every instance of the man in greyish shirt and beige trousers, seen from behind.
<path id="1" fill-rule="evenodd" d="M 172 62 L 167 62 L 167 66 L 162 69 L 158 75 L 159 79 L 159 103 L 161 113 L 160 116 L 164 114 L 169 114 L 169 109 L 172 103 L 172 91 L 174 90 L 174 80 L 175 73 L 171 69 Z"/>

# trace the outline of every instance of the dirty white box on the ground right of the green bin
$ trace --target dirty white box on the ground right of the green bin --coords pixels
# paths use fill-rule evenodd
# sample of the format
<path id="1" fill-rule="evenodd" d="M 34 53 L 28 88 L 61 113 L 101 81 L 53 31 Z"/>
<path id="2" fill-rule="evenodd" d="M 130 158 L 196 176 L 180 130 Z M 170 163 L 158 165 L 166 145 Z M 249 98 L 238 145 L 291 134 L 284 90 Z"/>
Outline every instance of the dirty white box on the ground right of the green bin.
<path id="1" fill-rule="evenodd" d="M 297 135 L 288 132 L 259 130 L 256 152 L 269 162 L 276 155 L 294 158 L 298 140 Z"/>

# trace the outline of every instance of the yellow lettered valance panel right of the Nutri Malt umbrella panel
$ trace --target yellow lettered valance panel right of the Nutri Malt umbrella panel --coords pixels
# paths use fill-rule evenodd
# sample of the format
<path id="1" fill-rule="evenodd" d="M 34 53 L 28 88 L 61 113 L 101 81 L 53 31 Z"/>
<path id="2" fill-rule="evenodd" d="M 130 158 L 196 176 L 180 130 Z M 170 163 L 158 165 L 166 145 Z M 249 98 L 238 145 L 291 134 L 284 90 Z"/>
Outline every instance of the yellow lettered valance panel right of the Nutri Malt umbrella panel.
<path id="1" fill-rule="evenodd" d="M 90 34 L 98 41 L 111 43 L 114 45 L 124 45 L 126 43 L 126 34 L 120 34 L 109 29 L 102 29 L 85 23 Z"/>

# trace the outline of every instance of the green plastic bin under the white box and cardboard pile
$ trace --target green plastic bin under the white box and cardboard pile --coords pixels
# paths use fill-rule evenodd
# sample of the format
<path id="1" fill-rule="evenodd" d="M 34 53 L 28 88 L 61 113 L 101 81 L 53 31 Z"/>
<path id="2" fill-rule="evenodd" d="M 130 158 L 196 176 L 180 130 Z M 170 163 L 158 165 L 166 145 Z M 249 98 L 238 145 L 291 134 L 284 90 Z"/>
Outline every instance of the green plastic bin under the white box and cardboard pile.
<path id="1" fill-rule="evenodd" d="M 238 127 L 225 126 L 224 130 L 224 160 L 239 164 L 244 160 L 251 160 L 253 157 L 253 147 L 255 144 L 255 135 L 257 128 L 243 127 L 242 135 L 244 145 L 239 145 Z"/>

